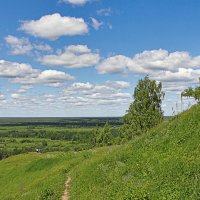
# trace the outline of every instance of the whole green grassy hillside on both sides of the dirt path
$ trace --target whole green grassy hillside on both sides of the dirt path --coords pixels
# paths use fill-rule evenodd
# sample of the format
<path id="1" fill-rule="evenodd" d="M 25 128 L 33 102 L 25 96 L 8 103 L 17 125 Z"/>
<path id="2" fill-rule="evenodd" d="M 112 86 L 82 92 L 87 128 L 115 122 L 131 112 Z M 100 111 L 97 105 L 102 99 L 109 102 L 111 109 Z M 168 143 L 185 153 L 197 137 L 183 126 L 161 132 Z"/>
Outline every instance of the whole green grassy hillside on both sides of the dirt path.
<path id="1" fill-rule="evenodd" d="M 200 199 L 200 105 L 129 144 L 0 161 L 0 199 Z"/>

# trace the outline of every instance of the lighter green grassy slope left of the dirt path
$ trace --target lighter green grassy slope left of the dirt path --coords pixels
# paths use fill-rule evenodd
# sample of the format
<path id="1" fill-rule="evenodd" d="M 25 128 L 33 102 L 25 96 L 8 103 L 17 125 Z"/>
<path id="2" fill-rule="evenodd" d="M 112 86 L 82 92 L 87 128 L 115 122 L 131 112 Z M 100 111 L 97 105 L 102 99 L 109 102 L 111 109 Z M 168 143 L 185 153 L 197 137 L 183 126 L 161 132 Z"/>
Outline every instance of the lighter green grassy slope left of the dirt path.
<path id="1" fill-rule="evenodd" d="M 104 155 L 106 149 L 108 148 L 69 153 L 29 153 L 1 160 L 0 199 L 60 199 L 66 178 L 72 169 L 88 159 Z"/>

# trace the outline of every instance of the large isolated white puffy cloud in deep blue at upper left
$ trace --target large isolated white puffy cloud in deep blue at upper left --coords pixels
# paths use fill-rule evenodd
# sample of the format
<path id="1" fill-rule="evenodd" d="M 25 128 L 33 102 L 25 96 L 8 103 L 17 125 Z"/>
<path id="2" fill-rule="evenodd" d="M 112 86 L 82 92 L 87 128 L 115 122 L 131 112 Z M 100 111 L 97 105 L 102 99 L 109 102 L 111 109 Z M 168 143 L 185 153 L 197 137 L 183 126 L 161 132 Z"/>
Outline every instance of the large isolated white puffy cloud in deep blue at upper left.
<path id="1" fill-rule="evenodd" d="M 61 36 L 83 35 L 88 32 L 88 25 L 83 18 L 55 13 L 42 16 L 39 20 L 24 21 L 19 30 L 35 37 L 56 40 Z"/>

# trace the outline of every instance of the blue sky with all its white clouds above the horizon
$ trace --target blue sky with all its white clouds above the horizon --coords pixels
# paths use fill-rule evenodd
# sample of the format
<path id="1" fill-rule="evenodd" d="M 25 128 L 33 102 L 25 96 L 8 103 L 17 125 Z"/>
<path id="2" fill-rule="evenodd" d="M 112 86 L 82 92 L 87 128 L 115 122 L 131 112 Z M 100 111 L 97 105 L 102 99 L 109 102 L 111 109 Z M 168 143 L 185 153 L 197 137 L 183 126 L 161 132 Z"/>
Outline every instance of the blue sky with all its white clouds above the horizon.
<path id="1" fill-rule="evenodd" d="M 2 0 L 0 116 L 122 116 L 147 74 L 180 111 L 199 19 L 197 0 Z"/>

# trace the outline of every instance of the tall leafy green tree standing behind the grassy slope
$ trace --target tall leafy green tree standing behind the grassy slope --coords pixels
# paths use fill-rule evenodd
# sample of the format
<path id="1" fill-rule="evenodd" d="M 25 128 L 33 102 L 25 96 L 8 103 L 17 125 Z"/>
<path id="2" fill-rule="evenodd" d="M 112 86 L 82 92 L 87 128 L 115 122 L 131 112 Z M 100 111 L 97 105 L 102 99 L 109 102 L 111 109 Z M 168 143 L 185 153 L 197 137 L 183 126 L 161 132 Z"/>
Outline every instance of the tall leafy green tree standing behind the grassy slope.
<path id="1" fill-rule="evenodd" d="M 121 128 L 121 137 L 126 139 L 146 132 L 163 120 L 161 83 L 146 76 L 139 80 L 133 97 L 134 101 L 124 116 L 125 125 Z"/>

